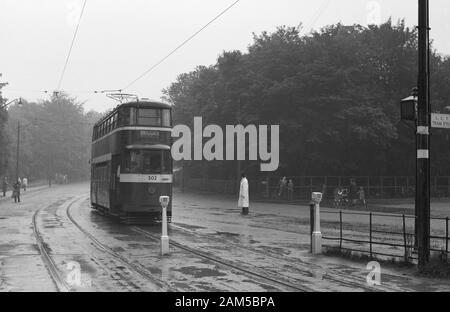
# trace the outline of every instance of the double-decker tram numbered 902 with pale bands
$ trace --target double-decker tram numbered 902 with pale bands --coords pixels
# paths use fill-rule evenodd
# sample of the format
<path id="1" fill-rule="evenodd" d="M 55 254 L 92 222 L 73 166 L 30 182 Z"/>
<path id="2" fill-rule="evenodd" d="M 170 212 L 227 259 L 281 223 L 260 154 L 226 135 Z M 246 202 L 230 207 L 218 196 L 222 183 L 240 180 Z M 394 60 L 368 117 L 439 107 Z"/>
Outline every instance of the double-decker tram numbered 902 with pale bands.
<path id="1" fill-rule="evenodd" d="M 166 103 L 118 105 L 93 129 L 91 204 L 125 223 L 161 218 L 160 196 L 172 199 L 172 110 Z M 172 217 L 172 200 L 167 207 Z"/>

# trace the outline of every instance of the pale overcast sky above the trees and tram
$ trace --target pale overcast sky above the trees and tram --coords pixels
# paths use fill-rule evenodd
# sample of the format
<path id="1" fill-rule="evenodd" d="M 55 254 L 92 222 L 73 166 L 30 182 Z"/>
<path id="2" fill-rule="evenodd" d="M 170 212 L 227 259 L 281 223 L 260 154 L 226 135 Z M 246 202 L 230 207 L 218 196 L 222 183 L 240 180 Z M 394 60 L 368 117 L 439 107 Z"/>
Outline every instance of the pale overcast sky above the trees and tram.
<path id="1" fill-rule="evenodd" d="M 85 108 L 116 102 L 94 90 L 121 89 L 236 0 L 87 0 L 61 89 Z M 3 96 L 48 98 L 64 67 L 84 0 L 0 0 L 0 73 Z M 241 0 L 128 93 L 159 99 L 161 90 L 224 50 L 243 50 L 252 32 L 405 18 L 417 25 L 417 0 Z M 450 54 L 450 1 L 430 1 L 434 47 Z"/>

